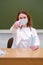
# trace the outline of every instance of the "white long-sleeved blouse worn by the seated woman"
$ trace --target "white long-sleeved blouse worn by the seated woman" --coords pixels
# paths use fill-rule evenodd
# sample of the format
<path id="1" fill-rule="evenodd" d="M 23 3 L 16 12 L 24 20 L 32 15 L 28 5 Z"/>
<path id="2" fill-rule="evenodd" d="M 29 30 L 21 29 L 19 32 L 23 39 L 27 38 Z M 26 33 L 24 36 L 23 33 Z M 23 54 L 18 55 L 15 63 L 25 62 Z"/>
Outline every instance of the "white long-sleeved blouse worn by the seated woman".
<path id="1" fill-rule="evenodd" d="M 12 26 L 10 32 L 15 35 L 12 48 L 29 48 L 33 45 L 40 45 L 36 29 L 33 27 L 15 29 Z"/>

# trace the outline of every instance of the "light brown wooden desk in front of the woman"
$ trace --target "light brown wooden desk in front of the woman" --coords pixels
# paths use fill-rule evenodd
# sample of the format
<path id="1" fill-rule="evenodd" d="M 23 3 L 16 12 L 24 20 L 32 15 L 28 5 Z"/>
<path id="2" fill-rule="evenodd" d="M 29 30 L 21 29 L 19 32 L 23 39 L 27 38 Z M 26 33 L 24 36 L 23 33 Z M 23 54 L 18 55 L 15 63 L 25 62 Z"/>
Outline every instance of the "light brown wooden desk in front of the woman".
<path id="1" fill-rule="evenodd" d="M 31 49 L 2 49 L 6 51 L 5 55 L 0 56 L 1 65 L 42 65 L 43 48 L 35 51 Z"/>

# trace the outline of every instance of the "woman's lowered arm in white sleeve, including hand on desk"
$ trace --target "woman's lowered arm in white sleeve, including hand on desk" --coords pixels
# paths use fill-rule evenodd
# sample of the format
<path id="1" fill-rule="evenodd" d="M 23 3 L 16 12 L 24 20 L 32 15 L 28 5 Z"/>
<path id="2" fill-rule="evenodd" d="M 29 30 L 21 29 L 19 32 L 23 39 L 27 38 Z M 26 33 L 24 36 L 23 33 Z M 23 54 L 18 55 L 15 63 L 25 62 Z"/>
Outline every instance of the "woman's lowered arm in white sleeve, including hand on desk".
<path id="1" fill-rule="evenodd" d="M 37 50 L 39 48 L 39 46 L 40 46 L 39 37 L 38 37 L 37 31 L 35 29 L 33 29 L 32 33 L 33 33 L 33 36 L 34 36 L 34 40 L 35 41 L 34 41 L 34 45 L 33 46 L 30 46 L 30 48 L 32 50 Z"/>

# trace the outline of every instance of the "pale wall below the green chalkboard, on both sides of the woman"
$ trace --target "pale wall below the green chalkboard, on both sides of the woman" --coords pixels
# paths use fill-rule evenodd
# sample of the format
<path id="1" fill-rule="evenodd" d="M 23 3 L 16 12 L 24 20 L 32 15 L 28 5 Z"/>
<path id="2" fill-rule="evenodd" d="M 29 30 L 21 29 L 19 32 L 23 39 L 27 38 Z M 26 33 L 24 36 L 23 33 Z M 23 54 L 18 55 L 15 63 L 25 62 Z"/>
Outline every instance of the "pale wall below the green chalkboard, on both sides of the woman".
<path id="1" fill-rule="evenodd" d="M 7 42 L 13 35 L 9 31 L 0 31 L 0 48 L 7 48 Z M 40 39 L 40 47 L 43 48 L 43 31 L 38 30 L 38 36 Z"/>

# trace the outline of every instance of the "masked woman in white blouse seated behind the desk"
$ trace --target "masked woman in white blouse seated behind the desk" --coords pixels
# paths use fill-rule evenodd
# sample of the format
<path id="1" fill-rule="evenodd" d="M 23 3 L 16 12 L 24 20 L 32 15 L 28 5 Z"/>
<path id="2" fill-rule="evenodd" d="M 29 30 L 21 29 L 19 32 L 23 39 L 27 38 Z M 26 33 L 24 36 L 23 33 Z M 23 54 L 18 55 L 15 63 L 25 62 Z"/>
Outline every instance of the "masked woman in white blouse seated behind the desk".
<path id="1" fill-rule="evenodd" d="M 32 20 L 28 13 L 20 11 L 16 22 L 10 31 L 14 34 L 12 48 L 31 48 L 36 50 L 40 46 L 36 29 L 32 27 Z"/>

